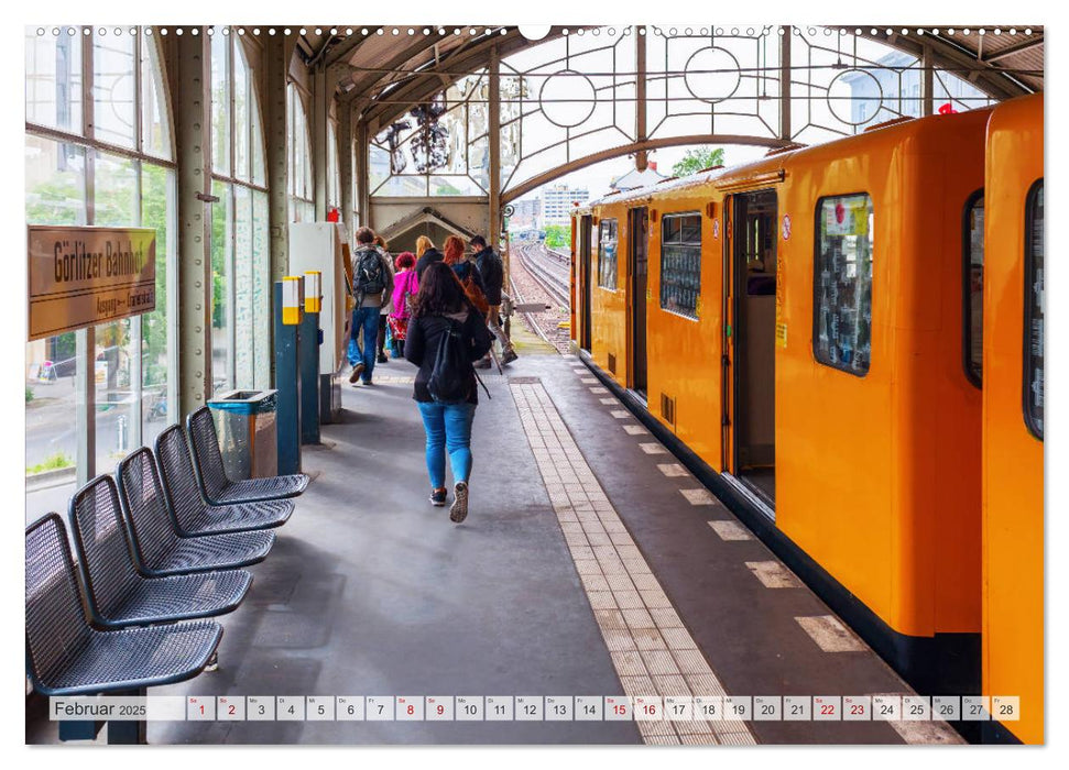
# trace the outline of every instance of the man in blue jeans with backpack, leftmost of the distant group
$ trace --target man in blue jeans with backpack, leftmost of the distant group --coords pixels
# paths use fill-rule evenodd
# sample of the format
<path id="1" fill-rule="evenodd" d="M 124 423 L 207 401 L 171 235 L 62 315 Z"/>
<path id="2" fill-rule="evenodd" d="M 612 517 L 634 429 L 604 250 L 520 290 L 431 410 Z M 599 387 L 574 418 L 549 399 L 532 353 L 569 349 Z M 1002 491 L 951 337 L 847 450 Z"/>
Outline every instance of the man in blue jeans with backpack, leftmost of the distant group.
<path id="1" fill-rule="evenodd" d="M 350 334 L 353 340 L 363 332 L 361 361 L 357 361 L 349 373 L 349 382 L 362 380 L 371 385 L 375 367 L 375 353 L 379 340 L 379 316 L 382 306 L 393 292 L 393 271 L 386 258 L 375 248 L 375 234 L 371 228 L 357 230 L 357 250 L 352 253 L 352 294 L 356 307 L 352 309 Z"/>

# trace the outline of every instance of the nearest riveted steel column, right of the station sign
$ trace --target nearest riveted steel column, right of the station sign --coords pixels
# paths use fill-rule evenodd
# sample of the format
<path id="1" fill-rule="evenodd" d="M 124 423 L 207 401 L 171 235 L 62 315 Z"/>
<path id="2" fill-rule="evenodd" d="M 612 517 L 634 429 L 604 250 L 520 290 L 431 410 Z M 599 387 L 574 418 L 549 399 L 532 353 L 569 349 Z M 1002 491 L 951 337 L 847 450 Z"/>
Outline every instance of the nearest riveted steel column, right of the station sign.
<path id="1" fill-rule="evenodd" d="M 210 37 L 175 42 L 174 117 L 178 176 L 178 414 L 211 393 L 211 217 L 201 196 L 211 193 Z M 174 320 L 172 320 L 174 322 Z"/>

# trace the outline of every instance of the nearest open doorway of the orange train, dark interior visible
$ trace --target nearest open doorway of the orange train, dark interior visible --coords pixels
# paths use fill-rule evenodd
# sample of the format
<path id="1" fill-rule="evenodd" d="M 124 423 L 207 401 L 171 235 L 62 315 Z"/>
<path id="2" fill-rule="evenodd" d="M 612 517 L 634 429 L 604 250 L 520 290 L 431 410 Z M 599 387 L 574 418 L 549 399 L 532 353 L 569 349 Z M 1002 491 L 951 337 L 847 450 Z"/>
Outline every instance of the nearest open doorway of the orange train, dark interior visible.
<path id="1" fill-rule="evenodd" d="M 732 475 L 770 512 L 776 501 L 776 194 L 731 199 L 731 241 L 726 260 L 724 384 Z"/>

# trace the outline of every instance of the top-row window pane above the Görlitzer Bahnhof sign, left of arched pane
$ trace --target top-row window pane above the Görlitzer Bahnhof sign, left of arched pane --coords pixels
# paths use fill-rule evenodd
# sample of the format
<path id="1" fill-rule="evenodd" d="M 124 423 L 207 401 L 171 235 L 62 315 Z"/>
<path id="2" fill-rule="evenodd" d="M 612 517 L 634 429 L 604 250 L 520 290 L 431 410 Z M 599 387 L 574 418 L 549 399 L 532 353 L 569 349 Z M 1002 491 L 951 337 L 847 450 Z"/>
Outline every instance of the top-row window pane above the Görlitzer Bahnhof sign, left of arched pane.
<path id="1" fill-rule="evenodd" d="M 102 32 L 92 35 L 92 135 L 132 148 L 138 144 L 137 40 Z"/>

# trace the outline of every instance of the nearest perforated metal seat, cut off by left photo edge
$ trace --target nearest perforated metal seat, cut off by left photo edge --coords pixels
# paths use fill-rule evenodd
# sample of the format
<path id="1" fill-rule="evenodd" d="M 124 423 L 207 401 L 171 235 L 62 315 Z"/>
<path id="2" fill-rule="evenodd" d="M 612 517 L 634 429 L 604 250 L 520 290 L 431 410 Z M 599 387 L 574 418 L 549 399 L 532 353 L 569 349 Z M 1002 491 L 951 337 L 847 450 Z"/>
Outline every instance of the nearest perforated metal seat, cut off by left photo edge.
<path id="1" fill-rule="evenodd" d="M 26 528 L 26 672 L 44 695 L 130 691 L 196 676 L 222 638 L 212 620 L 97 630 L 81 608 L 63 519 Z"/>

